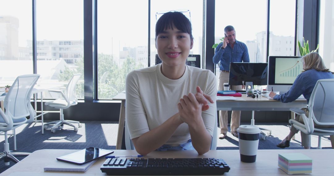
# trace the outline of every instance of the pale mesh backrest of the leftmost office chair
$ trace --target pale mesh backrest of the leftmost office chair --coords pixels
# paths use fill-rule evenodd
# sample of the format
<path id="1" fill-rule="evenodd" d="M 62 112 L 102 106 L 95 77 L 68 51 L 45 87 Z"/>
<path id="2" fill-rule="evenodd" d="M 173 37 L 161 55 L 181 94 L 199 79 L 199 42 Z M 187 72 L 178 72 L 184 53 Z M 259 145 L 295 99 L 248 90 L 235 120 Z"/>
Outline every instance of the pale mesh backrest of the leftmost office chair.
<path id="1" fill-rule="evenodd" d="M 30 115 L 28 106 L 31 106 L 31 92 L 39 76 L 38 74 L 21 75 L 15 79 L 4 100 L 5 114 L 13 119 Z"/>

